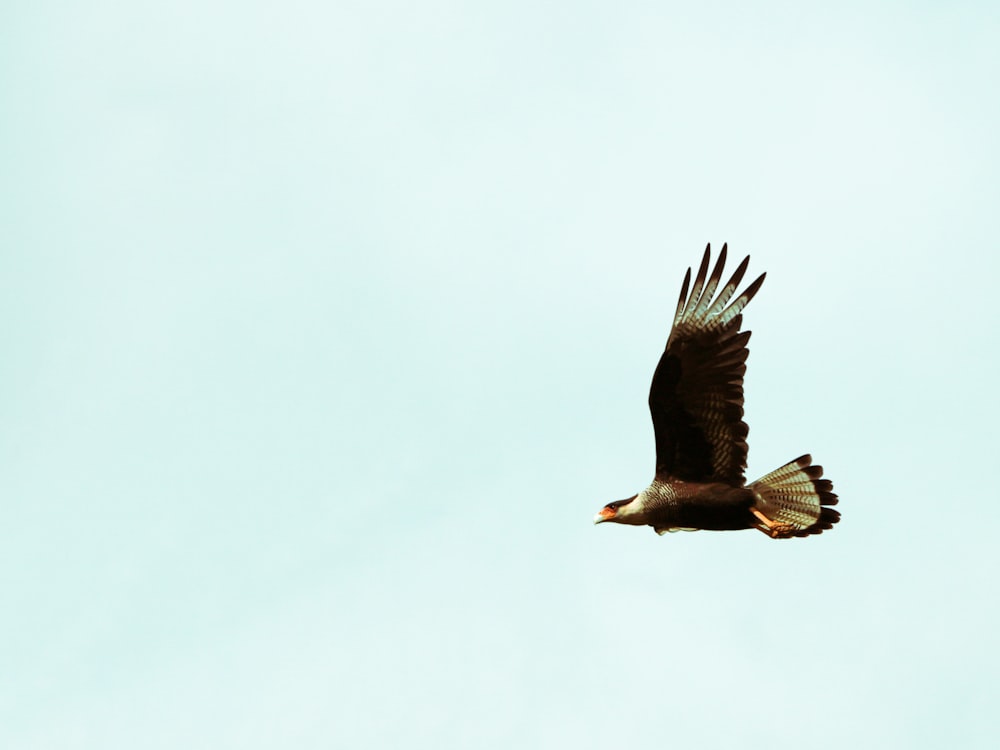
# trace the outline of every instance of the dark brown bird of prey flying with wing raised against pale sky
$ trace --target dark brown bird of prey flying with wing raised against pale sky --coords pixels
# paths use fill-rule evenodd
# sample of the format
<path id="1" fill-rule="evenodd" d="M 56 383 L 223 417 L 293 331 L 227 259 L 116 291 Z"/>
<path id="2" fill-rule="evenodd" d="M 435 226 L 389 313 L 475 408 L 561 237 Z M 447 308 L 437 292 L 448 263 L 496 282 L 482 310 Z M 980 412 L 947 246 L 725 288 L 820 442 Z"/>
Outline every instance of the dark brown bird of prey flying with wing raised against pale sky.
<path id="1" fill-rule="evenodd" d="M 743 309 L 767 274 L 733 299 L 750 263 L 747 256 L 716 295 L 728 245 L 709 275 L 711 250 L 709 243 L 693 285 L 691 268 L 684 276 L 649 388 L 656 440 L 653 481 L 632 497 L 605 505 L 594 523 L 652 526 L 661 535 L 741 529 L 757 529 L 772 539 L 821 534 L 840 520 L 840 513 L 831 507 L 838 501 L 833 483 L 823 478 L 823 467 L 812 456 L 799 456 L 746 483 L 743 375 L 750 331 L 740 326 Z"/>

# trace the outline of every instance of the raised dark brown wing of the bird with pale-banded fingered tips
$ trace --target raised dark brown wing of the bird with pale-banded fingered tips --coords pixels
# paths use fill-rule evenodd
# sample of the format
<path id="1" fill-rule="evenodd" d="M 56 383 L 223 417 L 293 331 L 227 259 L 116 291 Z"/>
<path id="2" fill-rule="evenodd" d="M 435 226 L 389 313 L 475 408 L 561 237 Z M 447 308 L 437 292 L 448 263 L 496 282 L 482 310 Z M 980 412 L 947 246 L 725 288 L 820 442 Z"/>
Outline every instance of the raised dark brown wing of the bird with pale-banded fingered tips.
<path id="1" fill-rule="evenodd" d="M 726 264 L 726 245 L 706 283 L 710 258 L 708 246 L 690 295 L 690 268 L 684 276 L 670 338 L 649 389 L 656 476 L 742 486 L 748 432 L 743 421 L 743 373 L 750 331 L 740 332 L 740 312 L 760 289 L 765 274 L 727 307 L 750 258 L 740 263 L 714 300 Z"/>

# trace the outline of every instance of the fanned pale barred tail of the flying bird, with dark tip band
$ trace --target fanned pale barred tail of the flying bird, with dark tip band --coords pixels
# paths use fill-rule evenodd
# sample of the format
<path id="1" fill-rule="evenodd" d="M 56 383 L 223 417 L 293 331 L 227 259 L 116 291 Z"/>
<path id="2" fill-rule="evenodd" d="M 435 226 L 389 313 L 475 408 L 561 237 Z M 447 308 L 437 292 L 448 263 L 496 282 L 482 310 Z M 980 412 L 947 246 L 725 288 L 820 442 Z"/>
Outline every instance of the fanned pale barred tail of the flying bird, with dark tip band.
<path id="1" fill-rule="evenodd" d="M 840 513 L 829 507 L 837 504 L 833 483 L 822 476 L 823 467 L 813 466 L 812 456 L 799 456 L 750 484 L 757 499 L 754 507 L 792 527 L 781 536 L 822 534 L 840 520 Z"/>

